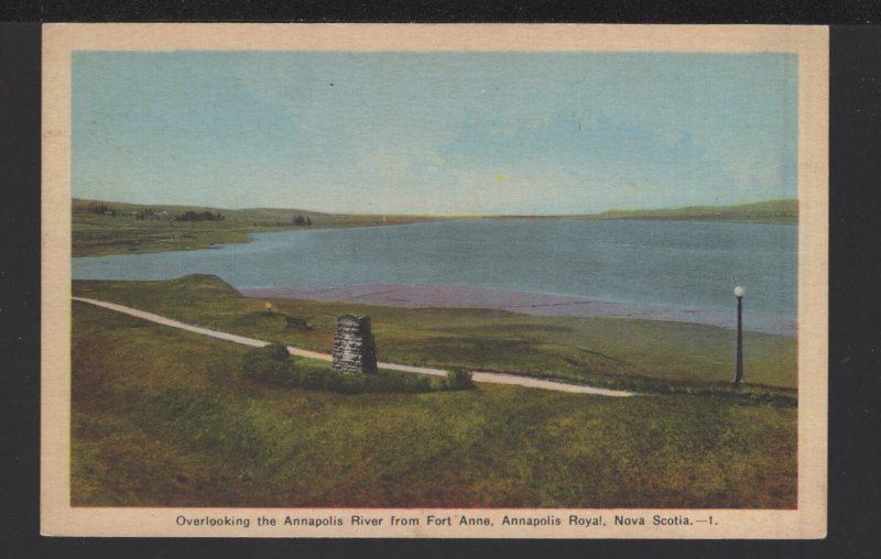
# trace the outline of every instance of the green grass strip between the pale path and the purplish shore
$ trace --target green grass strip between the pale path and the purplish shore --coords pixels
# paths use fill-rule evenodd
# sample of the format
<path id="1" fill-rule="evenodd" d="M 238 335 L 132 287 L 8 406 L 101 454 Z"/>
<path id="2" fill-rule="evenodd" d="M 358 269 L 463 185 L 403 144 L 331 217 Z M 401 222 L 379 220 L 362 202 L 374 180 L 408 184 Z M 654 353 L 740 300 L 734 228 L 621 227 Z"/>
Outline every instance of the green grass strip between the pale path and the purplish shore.
<path id="1" fill-rule="evenodd" d="M 369 315 L 383 361 L 557 377 L 598 386 L 668 392 L 728 388 L 735 332 L 684 322 L 521 315 L 488 309 L 400 308 L 242 297 L 215 276 L 162 282 L 74 282 L 74 294 L 214 329 L 329 352 L 336 317 Z M 285 328 L 283 315 L 314 328 Z M 796 340 L 746 332 L 749 391 L 795 398 Z"/>

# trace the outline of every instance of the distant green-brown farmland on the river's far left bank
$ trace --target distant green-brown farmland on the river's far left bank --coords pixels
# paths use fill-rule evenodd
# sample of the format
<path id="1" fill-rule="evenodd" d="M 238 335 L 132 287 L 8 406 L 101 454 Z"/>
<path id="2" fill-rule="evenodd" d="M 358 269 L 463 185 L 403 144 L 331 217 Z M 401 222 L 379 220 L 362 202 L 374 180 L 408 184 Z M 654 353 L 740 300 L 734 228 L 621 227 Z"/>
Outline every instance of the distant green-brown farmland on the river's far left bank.
<path id="1" fill-rule="evenodd" d="M 425 221 L 420 216 L 348 216 L 319 213 L 298 209 L 243 209 L 226 210 L 194 206 L 149 206 L 159 212 L 166 212 L 163 219 L 137 219 L 135 212 L 148 206 L 123 202 L 105 202 L 116 212 L 115 216 L 89 213 L 86 210 L 95 200 L 73 200 L 73 255 L 96 256 L 106 254 L 129 254 L 141 252 L 182 251 L 207 249 L 216 243 L 246 242 L 249 233 L 281 231 L 284 229 L 307 229 L 295 226 L 296 216 L 308 217 L 309 228 L 342 228 L 413 223 Z M 185 211 L 220 212 L 222 221 L 173 221 L 174 215 Z"/>

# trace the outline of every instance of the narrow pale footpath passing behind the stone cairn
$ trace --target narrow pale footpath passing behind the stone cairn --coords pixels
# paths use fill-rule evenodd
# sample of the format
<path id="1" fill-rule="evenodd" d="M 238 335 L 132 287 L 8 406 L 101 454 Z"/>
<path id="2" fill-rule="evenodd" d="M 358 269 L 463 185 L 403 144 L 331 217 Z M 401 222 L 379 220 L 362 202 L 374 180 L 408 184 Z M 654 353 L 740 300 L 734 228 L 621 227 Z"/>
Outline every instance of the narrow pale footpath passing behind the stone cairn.
<path id="1" fill-rule="evenodd" d="M 138 310 L 131 307 L 127 307 L 124 305 L 117 305 L 116 303 L 107 303 L 104 300 L 97 299 L 88 299 L 85 297 L 73 297 L 74 300 L 78 300 L 80 303 L 88 303 L 89 305 L 95 305 L 98 307 L 102 307 L 106 309 L 115 310 L 117 313 L 122 313 L 124 315 L 129 315 L 135 318 L 140 318 L 142 320 L 148 320 L 150 322 L 155 322 L 162 326 L 168 326 L 171 328 L 178 328 L 181 330 L 186 330 L 189 332 L 200 333 L 203 336 L 209 336 L 211 338 L 216 338 L 218 340 L 226 340 L 231 341 L 235 343 L 241 343 L 243 346 L 251 346 L 253 348 L 262 348 L 264 346 L 269 346 L 270 342 L 263 340 L 257 340 L 254 338 L 247 338 L 244 336 L 238 336 L 235 333 L 229 332 L 221 332 L 218 330 L 211 330 L 210 328 L 204 328 L 200 326 L 188 325 L 186 322 L 181 322 L 180 320 L 174 320 L 173 318 L 166 318 L 160 315 L 154 315 L 153 313 L 146 313 L 144 310 Z M 287 351 L 291 352 L 292 355 L 298 355 L 303 358 L 309 359 L 319 359 L 322 361 L 330 361 L 331 357 L 329 353 L 319 353 L 317 351 L 309 351 L 300 348 L 294 348 L 293 346 L 287 346 Z M 429 374 L 435 376 L 446 376 L 447 372 L 443 369 L 432 369 L 426 366 L 413 366 L 413 365 L 399 365 L 395 363 L 378 363 L 380 369 L 388 369 L 391 371 L 402 371 L 405 373 L 417 373 L 417 374 Z M 632 392 L 623 392 L 623 391 L 612 391 L 607 388 L 595 388 L 592 386 L 585 386 L 583 384 L 567 384 L 564 382 L 558 381 L 548 381 L 543 379 L 533 379 L 530 376 L 520 376 L 515 374 L 505 374 L 505 373 L 488 373 L 483 371 L 472 371 L 475 382 L 479 383 L 488 383 L 488 384 L 511 384 L 515 386 L 525 386 L 527 388 L 541 388 L 547 391 L 557 391 L 557 392 L 572 392 L 577 394 L 596 394 L 599 396 L 633 396 Z"/>

